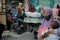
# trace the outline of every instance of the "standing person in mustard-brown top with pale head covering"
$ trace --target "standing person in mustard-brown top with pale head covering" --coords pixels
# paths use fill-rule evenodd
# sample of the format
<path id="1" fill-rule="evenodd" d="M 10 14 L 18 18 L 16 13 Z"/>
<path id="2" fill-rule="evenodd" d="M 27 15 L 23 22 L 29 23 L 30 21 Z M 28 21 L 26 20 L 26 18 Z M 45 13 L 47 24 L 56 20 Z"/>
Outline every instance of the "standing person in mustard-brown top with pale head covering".
<path id="1" fill-rule="evenodd" d="M 18 12 L 18 15 L 17 15 L 18 18 L 23 19 L 25 17 L 25 10 L 24 10 L 23 3 L 19 3 L 17 7 L 17 12 Z"/>

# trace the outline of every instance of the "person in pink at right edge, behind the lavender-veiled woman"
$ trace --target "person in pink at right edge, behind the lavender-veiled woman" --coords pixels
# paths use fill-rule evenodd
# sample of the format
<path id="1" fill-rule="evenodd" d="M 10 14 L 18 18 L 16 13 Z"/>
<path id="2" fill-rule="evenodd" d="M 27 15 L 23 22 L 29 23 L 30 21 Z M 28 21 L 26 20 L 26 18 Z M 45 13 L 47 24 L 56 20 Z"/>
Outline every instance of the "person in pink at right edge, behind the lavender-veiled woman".
<path id="1" fill-rule="evenodd" d="M 54 5 L 54 8 L 52 9 L 52 14 L 53 14 L 53 18 L 54 20 L 58 21 L 59 24 L 60 24 L 60 14 L 59 14 L 59 5 L 58 4 L 55 4 Z"/>

